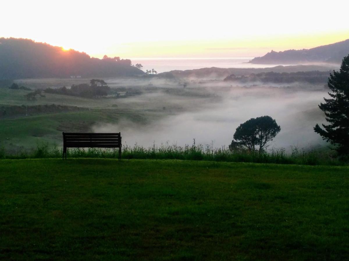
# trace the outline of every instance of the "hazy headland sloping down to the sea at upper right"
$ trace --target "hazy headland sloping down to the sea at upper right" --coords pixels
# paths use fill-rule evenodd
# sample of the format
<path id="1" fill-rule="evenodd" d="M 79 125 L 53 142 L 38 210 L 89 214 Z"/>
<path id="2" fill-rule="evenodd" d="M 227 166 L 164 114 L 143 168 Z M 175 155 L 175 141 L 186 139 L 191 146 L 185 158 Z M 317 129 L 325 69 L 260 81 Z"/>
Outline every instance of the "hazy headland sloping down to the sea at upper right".
<path id="1" fill-rule="evenodd" d="M 255 57 L 248 63 L 256 64 L 302 64 L 302 63 L 336 63 L 340 64 L 343 57 L 349 54 L 349 39 L 335 44 L 323 45 L 311 49 L 287 50 L 274 52 L 262 57 Z"/>

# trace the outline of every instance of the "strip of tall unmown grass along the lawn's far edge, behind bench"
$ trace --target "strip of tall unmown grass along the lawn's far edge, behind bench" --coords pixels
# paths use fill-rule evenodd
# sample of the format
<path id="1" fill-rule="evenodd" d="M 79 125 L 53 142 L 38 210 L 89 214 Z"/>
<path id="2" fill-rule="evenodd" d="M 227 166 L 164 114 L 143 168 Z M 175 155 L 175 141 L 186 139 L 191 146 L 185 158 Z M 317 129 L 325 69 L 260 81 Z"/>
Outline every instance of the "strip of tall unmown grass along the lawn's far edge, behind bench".
<path id="1" fill-rule="evenodd" d="M 37 145 L 33 150 L 18 150 L 9 153 L 0 147 L 0 159 L 26 158 L 60 158 L 62 148 L 49 148 L 47 144 Z M 74 148 L 68 149 L 68 158 L 118 158 L 118 149 Z M 170 145 L 142 147 L 137 144 L 122 147 L 122 159 L 180 159 L 180 160 L 209 160 L 226 162 L 276 163 L 299 165 L 349 165 L 348 160 L 335 156 L 333 151 L 306 151 L 293 148 L 291 153 L 285 149 L 270 149 L 262 153 L 249 151 L 230 151 L 228 148 L 214 148 L 213 145 L 185 145 L 184 147 Z"/>

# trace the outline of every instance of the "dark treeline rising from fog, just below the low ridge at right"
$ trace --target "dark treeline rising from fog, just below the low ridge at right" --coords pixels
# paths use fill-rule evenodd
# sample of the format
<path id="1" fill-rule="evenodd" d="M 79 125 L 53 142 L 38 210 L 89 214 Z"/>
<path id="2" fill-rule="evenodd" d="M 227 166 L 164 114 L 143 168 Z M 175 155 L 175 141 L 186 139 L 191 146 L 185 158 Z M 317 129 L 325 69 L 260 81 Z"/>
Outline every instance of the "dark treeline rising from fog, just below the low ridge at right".
<path id="1" fill-rule="evenodd" d="M 252 73 L 250 76 L 235 76 L 231 74 L 224 81 L 246 82 L 262 82 L 262 83 L 292 83 L 307 82 L 310 84 L 325 84 L 327 82 L 329 72 L 309 71 L 309 72 L 262 72 Z"/>

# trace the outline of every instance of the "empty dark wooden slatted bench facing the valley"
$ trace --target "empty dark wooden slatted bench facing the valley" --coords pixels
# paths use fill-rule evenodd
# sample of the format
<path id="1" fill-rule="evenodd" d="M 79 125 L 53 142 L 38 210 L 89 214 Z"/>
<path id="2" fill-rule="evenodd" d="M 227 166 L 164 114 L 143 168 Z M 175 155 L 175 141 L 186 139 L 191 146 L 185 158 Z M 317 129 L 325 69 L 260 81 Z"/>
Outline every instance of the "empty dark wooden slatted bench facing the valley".
<path id="1" fill-rule="evenodd" d="M 121 135 L 119 133 L 72 133 L 63 132 L 63 159 L 67 148 L 119 148 L 121 159 Z"/>

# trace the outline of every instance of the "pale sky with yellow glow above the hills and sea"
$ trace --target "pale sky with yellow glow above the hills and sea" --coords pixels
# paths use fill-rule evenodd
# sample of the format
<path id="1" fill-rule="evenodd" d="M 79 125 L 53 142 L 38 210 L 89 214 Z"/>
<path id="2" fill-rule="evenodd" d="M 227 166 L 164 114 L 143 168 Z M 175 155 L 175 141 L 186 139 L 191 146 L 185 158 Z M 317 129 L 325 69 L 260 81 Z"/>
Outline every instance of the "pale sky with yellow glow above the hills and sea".
<path id="1" fill-rule="evenodd" d="M 0 37 L 101 58 L 255 57 L 349 38 L 349 1 L 2 1 Z"/>

